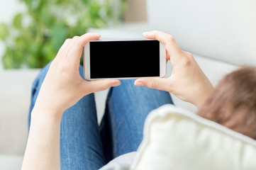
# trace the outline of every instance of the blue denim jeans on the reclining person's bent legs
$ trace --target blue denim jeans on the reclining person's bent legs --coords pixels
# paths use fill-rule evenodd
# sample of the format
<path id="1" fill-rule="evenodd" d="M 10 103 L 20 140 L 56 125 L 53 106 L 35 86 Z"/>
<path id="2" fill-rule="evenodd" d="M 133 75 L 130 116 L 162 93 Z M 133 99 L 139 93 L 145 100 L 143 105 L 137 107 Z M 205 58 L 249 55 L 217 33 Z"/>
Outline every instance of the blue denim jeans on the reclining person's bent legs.
<path id="1" fill-rule="evenodd" d="M 49 67 L 50 64 L 43 68 L 33 82 L 30 113 Z M 83 77 L 82 66 L 79 73 Z M 94 94 L 84 96 L 65 111 L 60 128 L 61 169 L 100 169 L 111 159 L 138 149 L 148 113 L 173 103 L 166 91 L 134 86 L 133 83 L 134 80 L 123 80 L 121 86 L 109 90 L 100 126 Z"/>

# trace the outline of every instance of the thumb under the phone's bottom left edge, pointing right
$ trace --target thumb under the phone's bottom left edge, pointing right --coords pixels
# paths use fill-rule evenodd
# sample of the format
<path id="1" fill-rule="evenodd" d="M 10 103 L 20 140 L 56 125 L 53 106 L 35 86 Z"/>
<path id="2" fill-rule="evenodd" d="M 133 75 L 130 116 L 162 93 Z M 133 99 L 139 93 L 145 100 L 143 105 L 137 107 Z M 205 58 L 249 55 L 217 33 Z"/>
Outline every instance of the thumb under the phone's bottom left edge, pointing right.
<path id="1" fill-rule="evenodd" d="M 121 82 L 118 79 L 103 79 L 89 82 L 87 81 L 84 85 L 87 94 L 91 94 L 96 91 L 104 91 L 112 86 L 119 86 L 120 84 Z"/>

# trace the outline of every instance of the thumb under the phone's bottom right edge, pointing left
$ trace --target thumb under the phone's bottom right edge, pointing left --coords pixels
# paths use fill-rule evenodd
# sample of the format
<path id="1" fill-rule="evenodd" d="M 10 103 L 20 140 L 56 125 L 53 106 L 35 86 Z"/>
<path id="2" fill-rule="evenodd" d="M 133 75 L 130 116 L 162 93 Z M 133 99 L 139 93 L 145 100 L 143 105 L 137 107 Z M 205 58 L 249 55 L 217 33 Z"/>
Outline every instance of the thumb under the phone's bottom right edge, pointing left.
<path id="1" fill-rule="evenodd" d="M 163 91 L 170 91 L 171 88 L 170 79 L 164 79 L 160 77 L 136 79 L 134 85 L 147 86 L 151 89 L 159 89 Z"/>

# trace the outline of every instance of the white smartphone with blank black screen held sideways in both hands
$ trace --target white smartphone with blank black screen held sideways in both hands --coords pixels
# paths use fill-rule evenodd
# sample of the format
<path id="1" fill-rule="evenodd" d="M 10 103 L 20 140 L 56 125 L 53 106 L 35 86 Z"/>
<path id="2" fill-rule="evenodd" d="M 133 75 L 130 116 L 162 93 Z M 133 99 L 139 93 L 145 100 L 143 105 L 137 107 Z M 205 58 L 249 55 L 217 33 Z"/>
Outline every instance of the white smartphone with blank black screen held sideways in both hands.
<path id="1" fill-rule="evenodd" d="M 166 50 L 158 40 L 92 40 L 84 46 L 84 78 L 165 77 Z"/>

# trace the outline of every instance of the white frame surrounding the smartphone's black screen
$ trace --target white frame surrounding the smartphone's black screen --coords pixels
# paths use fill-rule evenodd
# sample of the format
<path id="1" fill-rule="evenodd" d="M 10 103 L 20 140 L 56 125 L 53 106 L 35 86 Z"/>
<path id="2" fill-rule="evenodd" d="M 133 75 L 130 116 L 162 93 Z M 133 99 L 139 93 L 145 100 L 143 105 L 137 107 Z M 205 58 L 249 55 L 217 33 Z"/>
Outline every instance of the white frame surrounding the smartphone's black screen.
<path id="1" fill-rule="evenodd" d="M 91 40 L 89 42 L 97 42 L 97 41 L 136 41 L 136 40 L 155 40 L 155 39 L 99 39 L 99 40 Z M 91 79 L 90 72 L 90 43 L 84 45 L 84 78 L 87 80 L 97 80 Z M 160 45 L 160 77 L 165 77 L 166 74 L 166 49 L 165 45 L 162 42 Z M 126 78 L 104 78 L 104 79 L 139 79 L 142 77 L 126 77 Z"/>

